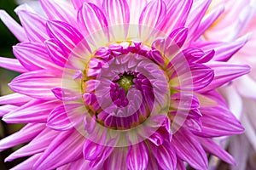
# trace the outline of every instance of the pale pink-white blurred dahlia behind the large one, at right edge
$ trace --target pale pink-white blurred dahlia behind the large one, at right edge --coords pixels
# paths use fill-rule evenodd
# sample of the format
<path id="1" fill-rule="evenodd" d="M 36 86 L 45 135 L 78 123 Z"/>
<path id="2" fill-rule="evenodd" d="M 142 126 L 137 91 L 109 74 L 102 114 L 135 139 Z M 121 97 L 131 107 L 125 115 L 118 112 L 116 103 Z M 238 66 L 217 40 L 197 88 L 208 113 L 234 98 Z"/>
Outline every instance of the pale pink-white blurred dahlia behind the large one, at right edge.
<path id="1" fill-rule="evenodd" d="M 236 3 L 235 3 L 236 2 Z M 213 1 L 218 6 L 220 1 Z M 235 6 L 234 6 L 235 4 Z M 256 1 L 224 1 L 225 13 L 220 16 L 213 26 L 205 33 L 207 40 L 234 41 L 245 32 L 251 32 L 251 39 L 231 59 L 230 63 L 247 64 L 252 67 L 251 73 L 230 82 L 220 88 L 221 94 L 228 101 L 230 110 L 241 120 L 245 127 L 245 134 L 230 138 L 228 144 L 230 152 L 237 160 L 237 166 L 232 169 L 253 169 L 256 162 Z M 222 35 L 228 35 L 222 38 Z M 213 166 L 214 167 L 214 166 Z"/>

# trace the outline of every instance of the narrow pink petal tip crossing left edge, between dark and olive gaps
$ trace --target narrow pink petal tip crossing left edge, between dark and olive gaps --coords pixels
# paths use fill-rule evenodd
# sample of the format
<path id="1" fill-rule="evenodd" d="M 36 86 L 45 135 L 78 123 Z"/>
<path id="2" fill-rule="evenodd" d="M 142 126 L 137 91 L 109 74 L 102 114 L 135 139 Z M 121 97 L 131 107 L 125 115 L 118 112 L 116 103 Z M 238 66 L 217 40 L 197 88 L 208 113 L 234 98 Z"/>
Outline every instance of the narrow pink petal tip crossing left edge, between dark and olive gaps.
<path id="1" fill-rule="evenodd" d="M 0 57 L 0 66 L 11 71 L 17 71 L 17 72 L 27 71 L 26 68 L 24 68 L 24 66 L 20 64 L 18 59 L 9 59 L 5 57 Z"/>

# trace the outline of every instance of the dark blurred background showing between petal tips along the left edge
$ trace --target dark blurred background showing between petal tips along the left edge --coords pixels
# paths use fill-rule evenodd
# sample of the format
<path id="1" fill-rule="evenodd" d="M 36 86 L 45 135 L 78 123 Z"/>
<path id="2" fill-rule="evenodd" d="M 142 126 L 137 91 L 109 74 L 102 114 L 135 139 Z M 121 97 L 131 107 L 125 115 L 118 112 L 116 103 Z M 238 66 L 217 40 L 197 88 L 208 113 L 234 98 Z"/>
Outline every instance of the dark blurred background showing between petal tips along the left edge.
<path id="1" fill-rule="evenodd" d="M 15 0 L 0 0 L 0 9 L 6 10 L 8 14 L 10 14 L 15 20 L 18 20 L 14 12 L 16 6 L 17 4 L 15 3 Z M 3 22 L 0 20 L 0 56 L 14 58 L 14 55 L 12 54 L 12 46 L 16 43 L 18 43 L 17 39 L 12 35 L 8 28 L 3 25 Z M 17 72 L 8 71 L 0 67 L 0 96 L 12 93 L 12 91 L 8 87 L 8 83 L 18 75 L 19 73 Z M 14 133 L 15 131 L 18 131 L 20 127 L 22 127 L 22 125 L 7 125 L 1 120 L 0 139 L 9 136 L 9 134 Z M 4 158 L 9 156 L 9 154 L 12 153 L 17 148 L 19 148 L 19 146 L 9 150 L 3 150 L 3 152 L 0 152 L 0 170 L 10 169 L 20 161 L 23 161 L 22 159 L 12 162 L 4 162 Z"/>

